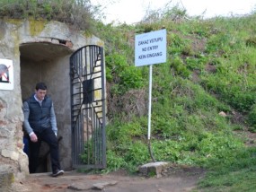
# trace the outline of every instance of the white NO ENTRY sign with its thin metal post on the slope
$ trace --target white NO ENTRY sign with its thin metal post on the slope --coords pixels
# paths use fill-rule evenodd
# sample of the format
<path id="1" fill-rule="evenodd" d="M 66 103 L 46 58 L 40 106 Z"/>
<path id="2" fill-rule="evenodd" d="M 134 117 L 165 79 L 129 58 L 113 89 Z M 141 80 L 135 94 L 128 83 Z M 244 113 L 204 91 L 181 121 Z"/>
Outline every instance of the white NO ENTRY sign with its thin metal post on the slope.
<path id="1" fill-rule="evenodd" d="M 148 126 L 147 141 L 152 160 L 150 137 L 151 137 L 151 97 L 152 97 L 152 72 L 153 64 L 166 62 L 166 30 L 153 31 L 136 36 L 135 39 L 135 65 L 149 65 L 149 88 L 148 88 Z"/>

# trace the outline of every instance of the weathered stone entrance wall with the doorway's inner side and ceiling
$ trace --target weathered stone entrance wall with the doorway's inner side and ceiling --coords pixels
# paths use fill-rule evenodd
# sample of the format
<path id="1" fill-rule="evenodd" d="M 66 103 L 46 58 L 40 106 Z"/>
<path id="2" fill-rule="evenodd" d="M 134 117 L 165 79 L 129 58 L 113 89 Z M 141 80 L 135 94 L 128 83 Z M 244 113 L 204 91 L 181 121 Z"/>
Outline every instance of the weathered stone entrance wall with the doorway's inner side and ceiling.
<path id="1" fill-rule="evenodd" d="M 29 63 L 38 63 L 36 59 L 46 61 L 40 69 L 39 80 L 49 83 L 49 93 L 56 103 L 59 135 L 65 139 L 60 146 L 63 148 L 61 164 L 64 169 L 71 167 L 69 57 L 77 48 L 88 44 L 103 45 L 101 39 L 84 37 L 61 22 L 0 21 L 0 58 L 13 60 L 14 77 L 13 90 L 0 90 L 0 191 L 8 188 L 4 185 L 11 186 L 10 182 L 24 179 L 29 174 L 28 158 L 22 152 L 22 100 L 30 94 L 39 76 L 33 74 L 33 67 L 26 68 Z M 23 71 L 29 71 L 28 76 L 21 76 Z M 6 178 L 9 184 L 3 184 Z"/>

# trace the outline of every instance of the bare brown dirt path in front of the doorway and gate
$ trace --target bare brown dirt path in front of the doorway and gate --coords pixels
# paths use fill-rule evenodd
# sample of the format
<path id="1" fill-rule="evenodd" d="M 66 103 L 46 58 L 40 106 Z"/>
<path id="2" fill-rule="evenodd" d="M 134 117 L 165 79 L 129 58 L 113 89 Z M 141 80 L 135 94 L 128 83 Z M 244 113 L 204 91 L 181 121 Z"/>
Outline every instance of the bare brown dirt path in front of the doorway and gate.
<path id="1" fill-rule="evenodd" d="M 124 171 L 104 175 L 84 174 L 68 171 L 58 178 L 52 178 L 49 173 L 31 174 L 29 179 L 20 183 L 20 192 L 93 192 L 93 185 L 104 186 L 104 192 L 185 192 L 192 191 L 204 176 L 199 169 L 169 170 L 161 178 L 144 178 L 128 176 Z M 98 188 L 99 189 L 99 188 Z"/>

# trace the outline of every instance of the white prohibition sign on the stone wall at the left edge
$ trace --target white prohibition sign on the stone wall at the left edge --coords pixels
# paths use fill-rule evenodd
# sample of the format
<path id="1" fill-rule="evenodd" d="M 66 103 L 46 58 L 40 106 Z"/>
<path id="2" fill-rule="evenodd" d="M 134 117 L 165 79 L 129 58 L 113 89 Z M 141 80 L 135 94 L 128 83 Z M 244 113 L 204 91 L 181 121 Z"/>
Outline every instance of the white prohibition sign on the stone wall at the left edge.
<path id="1" fill-rule="evenodd" d="M 0 58 L 0 90 L 13 90 L 13 60 Z"/>

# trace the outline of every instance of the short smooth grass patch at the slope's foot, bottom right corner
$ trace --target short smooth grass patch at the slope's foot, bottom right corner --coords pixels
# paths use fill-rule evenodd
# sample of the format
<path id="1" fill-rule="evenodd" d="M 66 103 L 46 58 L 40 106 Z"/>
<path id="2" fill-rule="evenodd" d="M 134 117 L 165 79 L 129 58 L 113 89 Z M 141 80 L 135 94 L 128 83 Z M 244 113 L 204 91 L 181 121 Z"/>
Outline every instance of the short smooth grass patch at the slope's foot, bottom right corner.
<path id="1" fill-rule="evenodd" d="M 202 191 L 255 191 L 256 149 L 243 149 L 234 153 L 234 160 L 225 163 L 220 161 L 212 166 L 207 177 L 200 181 Z"/>

